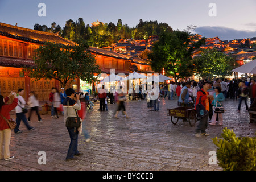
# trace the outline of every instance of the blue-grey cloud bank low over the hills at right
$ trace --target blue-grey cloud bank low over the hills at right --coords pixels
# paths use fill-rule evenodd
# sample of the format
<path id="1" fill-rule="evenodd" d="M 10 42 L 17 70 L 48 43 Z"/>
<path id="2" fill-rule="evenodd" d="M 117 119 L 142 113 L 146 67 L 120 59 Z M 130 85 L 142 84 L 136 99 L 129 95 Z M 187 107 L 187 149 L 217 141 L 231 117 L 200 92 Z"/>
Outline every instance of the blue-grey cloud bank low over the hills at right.
<path id="1" fill-rule="evenodd" d="M 236 30 L 221 26 L 202 26 L 197 27 L 194 31 L 205 38 L 213 38 L 218 36 L 221 40 L 246 39 L 256 37 L 256 31 Z"/>

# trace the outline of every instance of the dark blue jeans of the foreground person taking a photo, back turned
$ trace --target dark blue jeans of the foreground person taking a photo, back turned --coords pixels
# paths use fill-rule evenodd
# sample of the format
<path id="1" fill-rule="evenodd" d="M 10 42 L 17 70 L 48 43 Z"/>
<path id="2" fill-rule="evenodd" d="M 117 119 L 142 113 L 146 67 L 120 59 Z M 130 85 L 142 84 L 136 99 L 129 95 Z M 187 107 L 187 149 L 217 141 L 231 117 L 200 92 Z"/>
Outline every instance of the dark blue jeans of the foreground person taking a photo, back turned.
<path id="1" fill-rule="evenodd" d="M 79 154 L 79 151 L 77 150 L 79 132 L 77 129 L 70 128 L 70 127 L 67 127 L 67 129 L 70 137 L 70 144 L 69 144 L 68 154 L 66 159 L 71 159 L 71 158 L 74 158 L 75 154 Z"/>

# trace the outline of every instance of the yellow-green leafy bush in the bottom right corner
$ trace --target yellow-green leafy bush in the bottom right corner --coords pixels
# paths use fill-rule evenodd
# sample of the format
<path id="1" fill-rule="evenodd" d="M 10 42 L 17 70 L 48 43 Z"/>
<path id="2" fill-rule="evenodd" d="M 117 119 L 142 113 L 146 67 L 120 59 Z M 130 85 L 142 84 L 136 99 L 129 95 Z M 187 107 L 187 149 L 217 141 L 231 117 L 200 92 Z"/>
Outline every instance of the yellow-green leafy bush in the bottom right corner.
<path id="1" fill-rule="evenodd" d="M 233 130 L 225 128 L 221 134 L 223 139 L 213 138 L 218 147 L 218 164 L 224 171 L 256 170 L 256 138 L 236 137 Z"/>

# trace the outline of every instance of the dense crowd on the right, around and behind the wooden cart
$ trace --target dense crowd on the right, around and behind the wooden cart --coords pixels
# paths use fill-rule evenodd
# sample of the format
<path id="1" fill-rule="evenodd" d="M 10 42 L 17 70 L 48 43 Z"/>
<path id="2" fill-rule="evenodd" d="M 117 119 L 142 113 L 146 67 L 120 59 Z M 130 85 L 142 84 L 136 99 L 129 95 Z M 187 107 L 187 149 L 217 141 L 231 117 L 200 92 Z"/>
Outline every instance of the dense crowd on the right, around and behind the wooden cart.
<path id="1" fill-rule="evenodd" d="M 242 101 L 245 102 L 245 111 L 255 110 L 254 102 L 256 97 L 256 82 L 254 78 L 239 79 L 239 80 L 226 80 L 224 78 L 216 78 L 214 81 L 209 81 L 207 79 L 196 82 L 196 81 L 187 81 L 187 82 L 178 82 L 177 86 L 174 82 L 171 82 L 169 85 L 160 85 L 162 90 L 162 97 L 171 100 L 174 94 L 177 94 L 178 106 L 185 107 L 196 107 L 196 105 L 202 104 L 207 111 L 202 117 L 198 118 L 199 124 L 196 129 L 196 137 L 200 135 L 209 135 L 205 133 L 205 129 L 209 125 L 215 126 L 216 124 L 223 125 L 223 114 L 216 113 L 214 110 L 216 107 L 222 108 L 225 110 L 224 101 L 230 100 L 239 100 L 237 106 L 237 112 L 241 111 Z M 176 88 L 176 89 L 174 89 Z M 248 98 L 250 99 L 250 104 L 247 104 Z"/>

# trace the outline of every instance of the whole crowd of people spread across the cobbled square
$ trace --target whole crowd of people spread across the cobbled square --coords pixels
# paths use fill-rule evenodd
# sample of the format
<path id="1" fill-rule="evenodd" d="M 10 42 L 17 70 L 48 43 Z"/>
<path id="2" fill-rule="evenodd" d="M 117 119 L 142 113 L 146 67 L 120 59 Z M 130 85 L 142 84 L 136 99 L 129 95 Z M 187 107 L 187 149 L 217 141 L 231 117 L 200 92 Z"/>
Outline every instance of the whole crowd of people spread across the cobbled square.
<path id="1" fill-rule="evenodd" d="M 122 90 L 122 86 L 120 89 Z M 108 99 L 110 98 L 111 104 L 117 103 L 113 117 L 118 119 L 118 114 L 122 111 L 124 117 L 130 118 L 127 115 L 125 107 L 125 101 L 129 99 L 129 94 L 126 95 L 123 91 L 117 92 L 115 88 L 112 88 L 112 92 L 110 92 L 111 95 L 107 93 L 103 85 L 98 93 L 100 100 L 100 108 L 98 110 L 108 111 Z M 43 122 L 39 114 L 38 108 L 40 105 L 35 92 L 30 92 L 27 103 L 23 98 L 23 94 L 24 90 L 18 89 L 17 93 L 11 92 L 8 97 L 4 98 L 0 95 L 0 146 L 4 146 L 0 147 L 0 159 L 9 160 L 14 158 L 14 156 L 10 155 L 9 151 L 11 129 L 5 121 L 5 119 L 10 119 L 9 113 L 11 110 L 15 109 L 16 111 L 15 134 L 22 133 L 22 131 L 19 130 L 21 121 L 24 122 L 28 130 L 35 129 L 35 127 L 29 124 L 33 111 L 35 111 L 37 115 L 38 122 Z M 12 96 L 14 96 L 12 104 L 7 104 L 7 101 L 9 101 L 9 98 Z M 177 82 L 177 84 L 171 81 L 170 84 L 161 85 L 152 81 L 152 84 L 146 85 L 146 93 L 139 92 L 139 94 L 137 94 L 138 100 L 145 99 L 147 101 L 148 111 L 159 111 L 160 99 L 175 100 L 176 97 L 178 98 L 178 106 L 195 107 L 195 110 L 196 106 L 199 104 L 204 106 L 205 114 L 197 113 L 199 122 L 196 127 L 195 136 L 208 136 L 209 134 L 205 131 L 208 127 L 208 120 L 209 125 L 223 125 L 222 113 L 216 113 L 214 110 L 216 107 L 224 107 L 223 102 L 225 100 L 239 100 L 237 106 L 238 112 L 241 111 L 242 101 L 245 102 L 245 111 L 256 110 L 256 82 L 253 78 L 245 80 L 225 80 L 223 78 L 217 78 L 214 81 L 203 80 L 196 82 L 192 80 Z M 250 104 L 247 104 L 247 98 L 250 98 Z M 52 92 L 49 94 L 49 101 L 51 102 L 51 117 L 59 118 L 58 111 L 61 111 L 64 115 L 64 121 L 68 117 L 78 117 L 77 111 L 81 110 L 82 101 L 85 102 L 85 105 L 92 103 L 89 100 L 88 93 L 84 96 L 82 93 L 75 93 L 75 90 L 72 88 L 67 90 L 61 88 L 61 92 L 58 92 L 56 88 L 52 88 Z M 26 109 L 26 104 L 30 107 L 29 110 Z M 59 108 L 61 108 L 61 110 L 59 110 Z M 86 107 L 84 109 L 86 110 Z M 25 114 L 27 111 L 28 118 Z M 66 160 L 77 159 L 76 156 L 82 155 L 82 153 L 77 150 L 77 139 L 81 130 L 79 130 L 79 128 L 74 130 L 74 128 L 69 127 L 67 127 L 67 130 L 71 142 L 69 144 Z"/>

